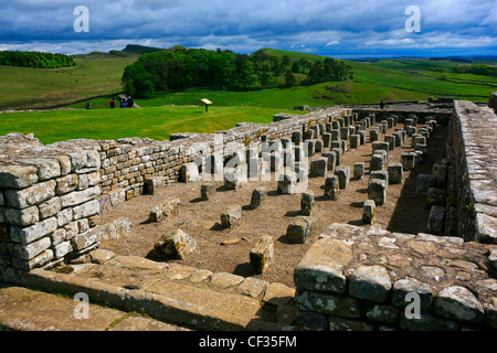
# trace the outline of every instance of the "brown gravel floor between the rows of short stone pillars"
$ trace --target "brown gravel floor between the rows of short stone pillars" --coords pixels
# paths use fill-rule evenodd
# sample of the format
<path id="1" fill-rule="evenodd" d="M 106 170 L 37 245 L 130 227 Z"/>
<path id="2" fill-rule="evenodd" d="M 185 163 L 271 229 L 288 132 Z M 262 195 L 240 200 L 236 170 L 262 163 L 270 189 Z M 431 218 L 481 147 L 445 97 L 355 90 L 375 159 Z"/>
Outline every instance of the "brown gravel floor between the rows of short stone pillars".
<path id="1" fill-rule="evenodd" d="M 402 126 L 399 124 L 394 128 Z M 393 129 L 389 130 L 389 132 L 392 131 Z M 376 223 L 382 228 L 410 234 L 426 232 L 429 210 L 425 208 L 425 197 L 415 192 L 416 175 L 431 173 L 433 162 L 444 158 L 446 126 L 437 126 L 430 139 L 429 156 L 425 162 L 416 165 L 413 171 L 404 171 L 402 184 L 388 186 L 385 204 L 377 207 Z M 390 151 L 389 162 L 400 162 L 401 153 L 412 150 L 411 139 L 408 138 L 403 147 Z M 313 216 L 318 218 L 318 234 L 332 223 L 362 225 L 362 203 L 368 200 L 367 188 L 371 152 L 371 143 L 368 141 L 359 149 L 348 149 L 342 154 L 340 165 L 350 165 L 351 176 L 356 162 L 364 162 L 366 172 L 362 180 L 350 180 L 347 189 L 341 190 L 338 201 L 324 197 L 325 178 L 309 178 L 308 189 L 316 195 Z M 316 157 L 319 157 L 319 153 L 310 159 Z M 329 175 L 331 173 L 328 171 Z M 131 235 L 124 239 L 102 240 L 101 248 L 118 255 L 138 255 L 163 261 L 167 259 L 158 257 L 154 253 L 154 245 L 167 229 L 180 227 L 195 238 L 197 250 L 190 254 L 184 261 L 175 261 L 212 272 L 230 272 L 244 277 L 255 276 L 268 282 L 283 282 L 294 287 L 294 268 L 313 243 L 288 244 L 285 239 L 288 224 L 299 215 L 302 195 L 279 195 L 277 181 L 273 176 L 268 182 L 250 181 L 240 190 L 225 190 L 223 182 L 216 182 L 216 197 L 201 201 L 201 184 L 202 181 L 169 185 L 159 194 L 141 195 L 103 214 L 102 224 L 118 217 L 128 217 L 133 223 L 133 231 Z M 265 186 L 268 196 L 260 208 L 250 210 L 252 191 L 257 186 Z M 178 214 L 161 223 L 148 223 L 150 210 L 170 197 L 180 199 L 181 205 Z M 221 213 L 229 205 L 241 205 L 243 210 L 242 223 L 234 229 L 224 229 L 220 225 Z M 248 254 L 262 235 L 271 235 L 275 240 L 274 264 L 263 275 L 256 275 L 251 268 Z M 231 239 L 240 239 L 240 242 L 222 245 L 223 242 Z"/>

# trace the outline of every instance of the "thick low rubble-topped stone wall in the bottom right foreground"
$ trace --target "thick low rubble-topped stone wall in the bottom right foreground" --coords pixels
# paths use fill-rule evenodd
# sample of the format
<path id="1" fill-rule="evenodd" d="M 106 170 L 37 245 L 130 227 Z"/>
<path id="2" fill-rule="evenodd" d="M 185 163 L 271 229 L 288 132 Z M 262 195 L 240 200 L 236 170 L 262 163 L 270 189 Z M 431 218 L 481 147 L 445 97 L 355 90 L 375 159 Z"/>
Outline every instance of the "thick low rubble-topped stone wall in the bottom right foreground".
<path id="1" fill-rule="evenodd" d="M 497 329 L 491 248 L 332 224 L 295 268 L 298 323 L 331 331 Z"/>

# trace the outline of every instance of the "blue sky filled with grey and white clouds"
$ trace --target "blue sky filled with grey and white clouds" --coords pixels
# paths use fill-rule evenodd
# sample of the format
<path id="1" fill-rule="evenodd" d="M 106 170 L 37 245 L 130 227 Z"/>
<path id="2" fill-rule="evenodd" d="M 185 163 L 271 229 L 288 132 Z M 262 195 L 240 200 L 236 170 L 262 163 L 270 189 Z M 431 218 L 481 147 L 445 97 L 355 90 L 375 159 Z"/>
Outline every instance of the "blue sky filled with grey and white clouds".
<path id="1" fill-rule="evenodd" d="M 88 21 L 74 14 L 88 10 Z M 420 10 L 420 31 L 406 31 Z M 411 20 L 415 20 L 412 18 Z M 75 30 L 87 23 L 87 32 Z M 408 28 L 409 28 L 408 25 Z M 335 57 L 497 55 L 496 0 L 1 0 L 0 50 L 295 50 Z"/>

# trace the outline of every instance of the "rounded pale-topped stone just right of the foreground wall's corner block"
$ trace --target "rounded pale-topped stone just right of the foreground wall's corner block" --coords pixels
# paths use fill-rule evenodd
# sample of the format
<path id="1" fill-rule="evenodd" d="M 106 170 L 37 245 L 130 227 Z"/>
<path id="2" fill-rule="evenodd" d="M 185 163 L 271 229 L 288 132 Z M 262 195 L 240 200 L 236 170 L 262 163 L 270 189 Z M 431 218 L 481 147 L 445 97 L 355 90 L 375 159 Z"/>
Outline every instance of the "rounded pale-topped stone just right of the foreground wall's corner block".
<path id="1" fill-rule="evenodd" d="M 383 302 L 391 287 L 390 276 L 384 267 L 361 266 L 350 277 L 349 295 L 359 299 Z"/>

